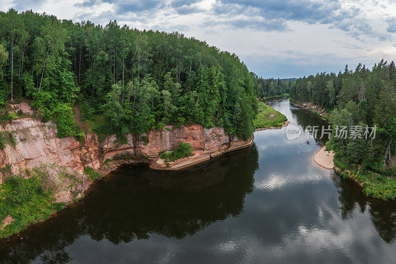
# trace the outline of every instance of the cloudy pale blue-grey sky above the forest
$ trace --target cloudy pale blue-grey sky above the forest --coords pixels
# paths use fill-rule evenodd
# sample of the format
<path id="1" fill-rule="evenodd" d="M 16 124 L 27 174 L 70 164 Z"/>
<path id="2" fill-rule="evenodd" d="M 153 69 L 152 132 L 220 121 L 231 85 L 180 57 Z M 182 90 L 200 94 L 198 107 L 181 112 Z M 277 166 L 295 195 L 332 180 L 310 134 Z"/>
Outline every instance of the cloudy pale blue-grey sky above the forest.
<path id="1" fill-rule="evenodd" d="M 396 60 L 394 0 L 0 0 L 74 22 L 178 31 L 236 53 L 265 78 Z"/>

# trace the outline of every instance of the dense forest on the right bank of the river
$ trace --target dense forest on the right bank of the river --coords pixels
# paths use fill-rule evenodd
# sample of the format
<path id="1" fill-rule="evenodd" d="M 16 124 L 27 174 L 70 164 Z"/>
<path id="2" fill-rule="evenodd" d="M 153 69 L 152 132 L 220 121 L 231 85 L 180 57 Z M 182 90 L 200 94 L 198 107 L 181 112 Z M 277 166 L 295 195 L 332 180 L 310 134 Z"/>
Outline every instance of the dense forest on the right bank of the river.
<path id="1" fill-rule="evenodd" d="M 365 194 L 390 200 L 396 194 L 396 67 L 381 60 L 370 70 L 357 65 L 354 71 L 318 73 L 292 83 L 292 102 L 311 102 L 327 109 L 333 128 L 345 126 L 350 131 L 363 128 L 357 137 L 333 136 L 335 164 L 349 169 Z M 365 127 L 376 136 L 365 137 Z M 372 134 L 374 129 L 367 131 Z"/>

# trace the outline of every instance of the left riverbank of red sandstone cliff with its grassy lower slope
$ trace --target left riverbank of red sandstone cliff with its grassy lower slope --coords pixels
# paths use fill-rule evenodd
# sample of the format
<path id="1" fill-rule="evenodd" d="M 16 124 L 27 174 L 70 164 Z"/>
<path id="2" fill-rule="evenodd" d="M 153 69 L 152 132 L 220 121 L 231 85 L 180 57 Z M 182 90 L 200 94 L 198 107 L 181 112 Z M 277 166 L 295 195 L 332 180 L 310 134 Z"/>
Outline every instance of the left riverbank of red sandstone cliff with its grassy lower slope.
<path id="1" fill-rule="evenodd" d="M 80 142 L 73 137 L 58 138 L 56 125 L 42 122 L 26 102 L 8 110 L 13 118 L 0 126 L 4 145 L 0 148 L 0 238 L 18 233 L 78 201 L 95 180 L 120 165 L 153 162 L 179 142 L 190 144 L 195 153 L 206 156 L 177 160 L 170 164 L 174 170 L 246 148 L 253 141 L 230 137 L 221 127 L 192 124 L 127 134 L 123 143 L 115 135 L 99 141 L 96 134 L 85 130 L 84 142 Z M 23 114 L 17 115 L 18 111 Z"/>

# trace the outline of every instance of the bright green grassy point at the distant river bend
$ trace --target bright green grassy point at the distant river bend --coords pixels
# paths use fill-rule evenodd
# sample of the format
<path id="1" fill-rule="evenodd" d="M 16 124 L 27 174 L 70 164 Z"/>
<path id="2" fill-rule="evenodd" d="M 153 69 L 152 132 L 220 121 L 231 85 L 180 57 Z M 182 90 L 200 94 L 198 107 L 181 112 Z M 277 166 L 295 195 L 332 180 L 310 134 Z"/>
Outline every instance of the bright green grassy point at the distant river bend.
<path id="1" fill-rule="evenodd" d="M 258 102 L 258 114 L 253 120 L 254 128 L 281 127 L 288 119 L 281 112 Z"/>

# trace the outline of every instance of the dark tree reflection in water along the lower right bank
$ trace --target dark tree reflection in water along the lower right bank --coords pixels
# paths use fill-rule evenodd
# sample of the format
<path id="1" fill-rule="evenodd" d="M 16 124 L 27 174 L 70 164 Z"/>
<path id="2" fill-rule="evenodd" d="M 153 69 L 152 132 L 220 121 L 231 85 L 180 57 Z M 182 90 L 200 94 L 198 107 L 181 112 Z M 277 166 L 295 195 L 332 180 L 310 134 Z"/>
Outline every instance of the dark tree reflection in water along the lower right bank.
<path id="1" fill-rule="evenodd" d="M 339 188 L 339 201 L 342 218 L 352 217 L 352 212 L 357 207 L 360 212 L 368 209 L 371 221 L 378 234 L 388 244 L 396 239 L 396 204 L 368 199 L 362 196 L 361 188 L 357 183 L 345 180 L 334 175 L 334 181 Z"/>

